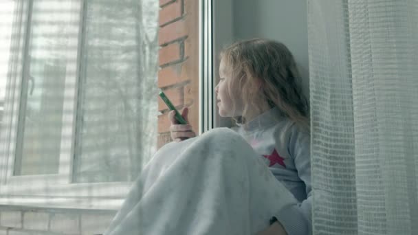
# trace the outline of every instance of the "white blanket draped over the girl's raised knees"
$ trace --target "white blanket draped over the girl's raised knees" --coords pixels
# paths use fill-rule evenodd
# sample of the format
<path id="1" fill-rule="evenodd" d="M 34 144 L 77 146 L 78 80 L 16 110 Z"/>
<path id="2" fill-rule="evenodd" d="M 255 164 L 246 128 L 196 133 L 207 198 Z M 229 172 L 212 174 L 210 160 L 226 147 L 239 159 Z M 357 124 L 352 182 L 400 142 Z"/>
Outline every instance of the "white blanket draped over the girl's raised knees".
<path id="1" fill-rule="evenodd" d="M 104 234 L 256 234 L 296 203 L 241 136 L 216 128 L 158 150 Z"/>

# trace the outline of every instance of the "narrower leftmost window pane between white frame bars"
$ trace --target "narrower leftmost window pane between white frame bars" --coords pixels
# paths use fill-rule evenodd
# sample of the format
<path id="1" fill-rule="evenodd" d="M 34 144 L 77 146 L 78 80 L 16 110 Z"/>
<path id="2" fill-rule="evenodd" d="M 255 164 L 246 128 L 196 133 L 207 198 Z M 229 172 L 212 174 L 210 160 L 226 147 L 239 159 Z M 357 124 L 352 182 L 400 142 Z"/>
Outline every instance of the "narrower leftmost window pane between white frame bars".
<path id="1" fill-rule="evenodd" d="M 77 3 L 36 0 L 30 8 L 14 175 L 58 173 L 63 103 L 74 99 L 64 91 L 66 81 L 76 78 Z"/>

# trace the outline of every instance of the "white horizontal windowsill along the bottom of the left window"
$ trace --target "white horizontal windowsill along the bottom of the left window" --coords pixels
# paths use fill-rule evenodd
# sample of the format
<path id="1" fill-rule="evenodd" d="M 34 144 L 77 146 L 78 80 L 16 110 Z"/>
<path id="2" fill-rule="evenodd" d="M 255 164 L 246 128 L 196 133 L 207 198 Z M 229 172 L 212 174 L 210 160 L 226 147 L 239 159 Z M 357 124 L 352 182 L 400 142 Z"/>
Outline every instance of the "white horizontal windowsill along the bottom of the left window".
<path id="1" fill-rule="evenodd" d="M 3 184 L 0 205 L 31 208 L 119 210 L 133 182 L 52 184 Z M 35 185 L 35 186 L 34 186 Z M 34 187 L 33 187 L 34 186 Z"/>

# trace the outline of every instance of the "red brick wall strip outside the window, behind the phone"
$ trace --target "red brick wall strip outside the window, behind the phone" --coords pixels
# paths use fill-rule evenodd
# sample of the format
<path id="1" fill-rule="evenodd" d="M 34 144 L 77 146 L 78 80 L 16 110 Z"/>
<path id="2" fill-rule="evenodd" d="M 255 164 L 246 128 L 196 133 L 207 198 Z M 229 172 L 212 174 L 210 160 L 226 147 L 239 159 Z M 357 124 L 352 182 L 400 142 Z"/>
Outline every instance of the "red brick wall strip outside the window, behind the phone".
<path id="1" fill-rule="evenodd" d="M 189 108 L 189 121 L 199 124 L 199 1 L 159 0 L 158 87 L 177 109 Z M 158 98 L 158 148 L 171 141 L 168 109 Z"/>

